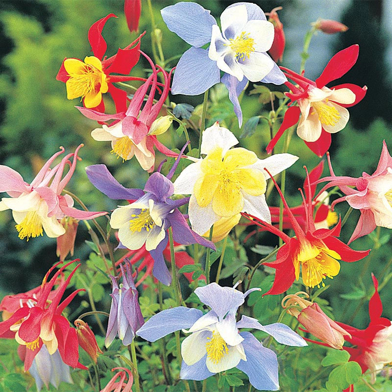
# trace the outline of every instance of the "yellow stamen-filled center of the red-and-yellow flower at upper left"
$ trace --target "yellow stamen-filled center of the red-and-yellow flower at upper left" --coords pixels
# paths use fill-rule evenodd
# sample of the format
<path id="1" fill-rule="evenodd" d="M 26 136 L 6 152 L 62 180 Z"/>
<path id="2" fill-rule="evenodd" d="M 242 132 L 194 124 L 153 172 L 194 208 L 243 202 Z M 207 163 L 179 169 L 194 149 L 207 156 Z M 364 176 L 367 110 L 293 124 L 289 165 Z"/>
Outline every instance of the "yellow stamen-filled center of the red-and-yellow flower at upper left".
<path id="1" fill-rule="evenodd" d="M 86 95 L 99 91 L 104 73 L 90 64 L 84 64 L 78 72 L 70 72 L 67 83 L 69 95 L 83 99 Z"/>

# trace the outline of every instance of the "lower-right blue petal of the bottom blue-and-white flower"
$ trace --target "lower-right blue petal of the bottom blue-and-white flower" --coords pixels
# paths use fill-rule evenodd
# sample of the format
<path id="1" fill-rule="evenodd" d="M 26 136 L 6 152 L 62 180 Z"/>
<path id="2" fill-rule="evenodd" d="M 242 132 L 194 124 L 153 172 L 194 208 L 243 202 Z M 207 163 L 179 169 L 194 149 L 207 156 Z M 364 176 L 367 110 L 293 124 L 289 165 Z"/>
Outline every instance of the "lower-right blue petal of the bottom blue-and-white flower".
<path id="1" fill-rule="evenodd" d="M 246 361 L 241 360 L 237 368 L 249 377 L 250 384 L 258 390 L 277 391 L 279 389 L 278 360 L 276 354 L 250 333 L 240 334 L 244 341 Z"/>

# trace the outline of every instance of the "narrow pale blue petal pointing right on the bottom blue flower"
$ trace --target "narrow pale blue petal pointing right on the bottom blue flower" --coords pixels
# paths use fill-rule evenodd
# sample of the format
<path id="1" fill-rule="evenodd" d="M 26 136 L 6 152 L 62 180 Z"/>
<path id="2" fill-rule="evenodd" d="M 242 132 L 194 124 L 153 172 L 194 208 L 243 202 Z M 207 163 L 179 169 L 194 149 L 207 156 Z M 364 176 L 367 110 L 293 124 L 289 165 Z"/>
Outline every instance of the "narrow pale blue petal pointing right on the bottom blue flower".
<path id="1" fill-rule="evenodd" d="M 286 344 L 288 346 L 307 346 L 308 344 L 289 326 L 280 322 L 275 322 L 269 325 L 261 325 L 259 321 L 251 317 L 243 316 L 237 322 L 237 328 L 254 328 L 264 331 L 271 335 L 276 342 Z"/>

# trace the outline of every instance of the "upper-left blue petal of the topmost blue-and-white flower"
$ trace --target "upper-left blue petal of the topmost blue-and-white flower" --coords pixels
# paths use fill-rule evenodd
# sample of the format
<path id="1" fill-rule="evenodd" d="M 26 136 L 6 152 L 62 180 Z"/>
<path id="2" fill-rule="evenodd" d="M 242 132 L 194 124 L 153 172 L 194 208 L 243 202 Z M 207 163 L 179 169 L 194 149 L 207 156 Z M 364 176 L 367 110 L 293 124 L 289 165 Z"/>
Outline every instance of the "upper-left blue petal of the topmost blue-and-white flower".
<path id="1" fill-rule="evenodd" d="M 179 2 L 161 10 L 169 30 L 176 33 L 188 44 L 200 48 L 211 41 L 215 18 L 209 10 L 193 2 Z"/>

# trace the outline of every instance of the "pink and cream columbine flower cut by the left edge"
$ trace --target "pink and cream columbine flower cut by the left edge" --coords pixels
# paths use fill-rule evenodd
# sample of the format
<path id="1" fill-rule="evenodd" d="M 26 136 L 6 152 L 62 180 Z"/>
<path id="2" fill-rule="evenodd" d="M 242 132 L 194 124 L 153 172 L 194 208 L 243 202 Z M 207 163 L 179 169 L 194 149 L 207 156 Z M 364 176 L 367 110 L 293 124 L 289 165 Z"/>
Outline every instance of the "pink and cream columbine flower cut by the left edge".
<path id="1" fill-rule="evenodd" d="M 0 201 L 0 211 L 12 210 L 19 238 L 27 241 L 30 237 L 41 236 L 43 230 L 48 237 L 59 237 L 65 233 L 65 228 L 58 221 L 65 216 L 75 219 L 93 219 L 107 212 L 80 211 L 73 208 L 71 196 L 61 196 L 61 192 L 70 181 L 76 168 L 77 156 L 81 144 L 74 153 L 66 155 L 53 169 L 50 165 L 57 156 L 64 153 L 64 148 L 55 153 L 35 176 L 31 184 L 27 184 L 15 170 L 0 165 L 0 192 L 7 192 L 11 197 L 3 197 Z M 72 165 L 63 176 L 65 166 L 73 157 Z M 51 181 L 51 183 L 50 183 Z M 50 183 L 50 185 L 49 185 Z"/>

